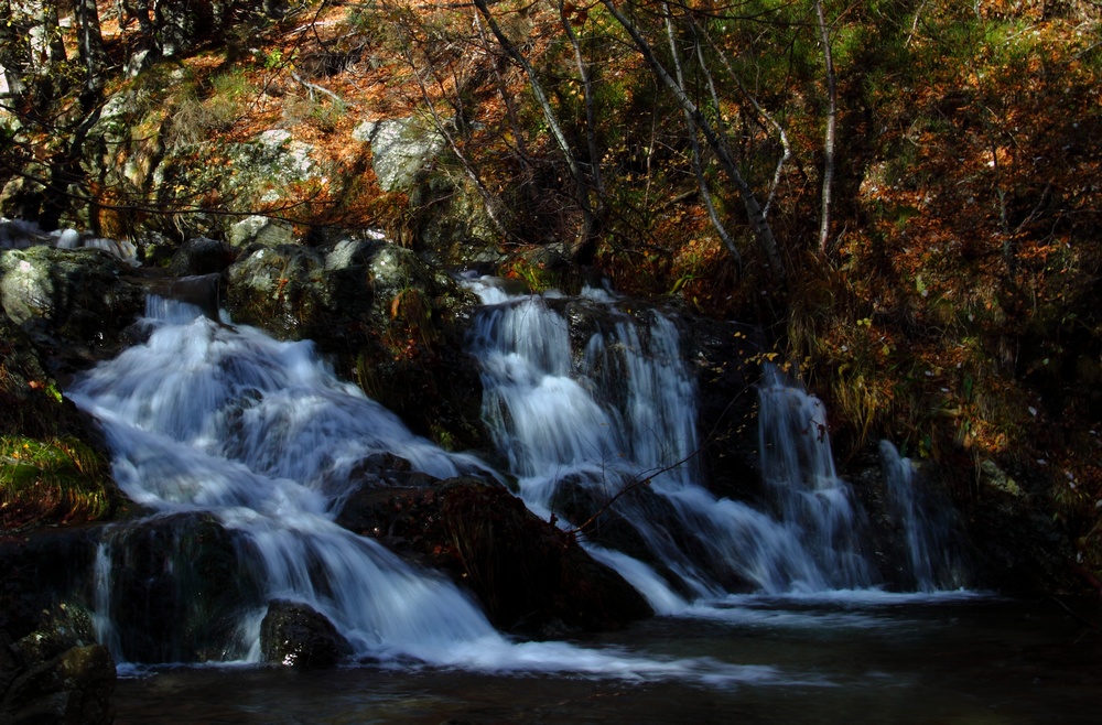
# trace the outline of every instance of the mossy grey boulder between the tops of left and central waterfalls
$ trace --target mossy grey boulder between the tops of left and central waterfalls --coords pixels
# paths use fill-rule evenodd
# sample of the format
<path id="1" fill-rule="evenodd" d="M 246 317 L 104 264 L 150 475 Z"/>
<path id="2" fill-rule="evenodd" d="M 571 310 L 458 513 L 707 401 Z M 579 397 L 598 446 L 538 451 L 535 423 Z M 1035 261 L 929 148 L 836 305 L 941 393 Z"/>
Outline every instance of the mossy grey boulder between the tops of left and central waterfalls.
<path id="1" fill-rule="evenodd" d="M 253 246 L 228 270 L 236 322 L 312 339 L 342 377 L 450 447 L 485 445 L 479 378 L 463 353 L 475 297 L 374 235 L 323 247 Z"/>

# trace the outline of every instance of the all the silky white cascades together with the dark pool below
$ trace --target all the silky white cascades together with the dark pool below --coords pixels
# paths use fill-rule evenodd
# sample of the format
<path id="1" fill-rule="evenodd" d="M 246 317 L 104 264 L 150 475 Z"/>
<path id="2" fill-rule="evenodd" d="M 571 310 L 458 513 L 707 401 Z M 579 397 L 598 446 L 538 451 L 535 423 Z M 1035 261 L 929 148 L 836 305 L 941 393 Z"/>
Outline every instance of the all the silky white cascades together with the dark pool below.
<path id="1" fill-rule="evenodd" d="M 679 596 L 645 562 L 594 547 L 667 616 L 605 635 L 514 641 L 462 587 L 332 520 L 358 462 L 374 454 L 396 452 L 442 477 L 493 476 L 484 464 L 412 435 L 337 380 L 309 344 L 170 305 L 147 344 L 69 393 L 104 423 L 131 498 L 165 513 L 217 516 L 261 552 L 266 598 L 310 603 L 354 656 L 318 672 L 259 666 L 259 613 L 245 613 L 247 656 L 229 658 L 237 661 L 126 664 L 116 722 L 1098 721 L 1102 637 L 1056 599 L 877 588 L 854 537 L 860 512 L 833 470 L 829 439 L 810 424 L 822 412 L 806 391 L 780 380 L 760 388 L 763 470 L 780 490 L 775 518 L 716 499 L 691 465 L 665 469 L 698 445 L 693 388 L 666 318 L 635 327 L 611 311 L 614 324 L 590 338 L 583 369 L 568 375 L 575 362 L 564 355 L 563 317 L 534 299 L 487 302 L 474 348 L 487 410 L 510 411 L 489 422 L 528 505 L 545 513 L 552 479 L 568 470 L 649 472 L 651 490 L 701 534 L 712 563 L 744 569 L 759 593 L 727 594 L 687 552 L 656 545 L 693 593 Z M 609 394 L 617 378 L 629 385 Z M 662 533 L 648 521 L 638 528 Z M 125 660 L 111 566 L 105 545 L 96 624 Z M 916 571 L 923 576 L 933 581 Z M 1096 616 L 1092 606 L 1082 610 Z"/>

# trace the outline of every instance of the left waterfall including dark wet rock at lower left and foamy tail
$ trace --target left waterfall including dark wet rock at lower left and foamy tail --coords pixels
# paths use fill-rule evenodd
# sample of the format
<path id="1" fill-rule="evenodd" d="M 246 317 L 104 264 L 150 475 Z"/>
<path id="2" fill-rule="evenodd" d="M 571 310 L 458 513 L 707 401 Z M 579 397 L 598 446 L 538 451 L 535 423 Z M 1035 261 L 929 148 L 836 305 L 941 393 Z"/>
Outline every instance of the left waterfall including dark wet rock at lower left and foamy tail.
<path id="1" fill-rule="evenodd" d="M 494 476 L 338 380 L 310 343 L 280 343 L 153 299 L 147 342 L 67 394 L 101 423 L 120 487 L 148 515 L 107 528 L 94 571 L 100 641 L 130 664 L 260 658 L 268 603 L 326 617 L 352 658 L 486 672 L 768 682 L 773 668 L 515 642 L 442 575 L 334 522 L 387 453 L 436 477 Z"/>

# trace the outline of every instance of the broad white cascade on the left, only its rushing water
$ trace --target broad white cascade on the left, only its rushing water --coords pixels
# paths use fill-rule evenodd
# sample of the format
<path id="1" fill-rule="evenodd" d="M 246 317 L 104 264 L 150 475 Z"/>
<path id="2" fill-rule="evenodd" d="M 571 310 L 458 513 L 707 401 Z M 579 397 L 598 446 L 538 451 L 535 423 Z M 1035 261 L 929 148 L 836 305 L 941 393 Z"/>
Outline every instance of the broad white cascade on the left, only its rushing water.
<path id="1" fill-rule="evenodd" d="M 393 453 L 437 477 L 479 470 L 476 459 L 411 434 L 338 381 L 309 344 L 277 343 L 164 301 L 150 310 L 163 318 L 148 343 L 69 392 L 104 423 L 130 498 L 154 511 L 217 516 L 257 553 L 269 599 L 310 604 L 357 654 L 431 660 L 434 648 L 498 637 L 451 583 L 332 521 L 352 472 L 372 454 Z M 108 574 L 100 552 L 100 589 Z M 107 597 L 98 599 L 106 608 Z M 98 616 L 110 639 L 109 613 Z"/>

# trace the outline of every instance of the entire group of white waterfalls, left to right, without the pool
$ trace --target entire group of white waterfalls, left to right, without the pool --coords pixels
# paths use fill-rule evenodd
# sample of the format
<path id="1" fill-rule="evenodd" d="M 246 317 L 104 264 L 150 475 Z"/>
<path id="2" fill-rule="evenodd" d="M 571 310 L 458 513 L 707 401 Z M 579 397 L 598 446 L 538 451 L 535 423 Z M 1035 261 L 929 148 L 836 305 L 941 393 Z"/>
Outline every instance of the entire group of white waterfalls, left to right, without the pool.
<path id="1" fill-rule="evenodd" d="M 483 415 L 521 497 L 657 612 L 735 593 L 875 584 L 861 551 L 864 516 L 834 470 L 814 397 L 765 370 L 760 467 L 774 500 L 719 498 L 701 483 L 696 389 L 673 320 L 627 312 L 607 292 L 566 300 L 475 288 L 485 304 L 468 342 Z M 307 342 L 280 343 L 155 297 L 147 314 L 144 343 L 67 391 L 102 424 L 116 480 L 147 512 L 110 527 L 96 556 L 95 624 L 119 660 L 257 661 L 268 603 L 289 599 L 329 619 L 360 660 L 633 677 L 699 670 L 510 642 L 450 581 L 334 521 L 371 485 L 379 456 L 436 478 L 499 474 L 412 434 L 337 379 Z M 895 488 L 914 488 L 898 483 L 906 467 L 886 466 Z M 904 494 L 893 500 L 900 520 L 932 510 Z M 927 552 L 912 560 L 918 586 L 943 586 L 936 529 L 919 530 L 908 543 Z M 131 591 L 172 604 L 134 603 L 122 594 Z"/>

